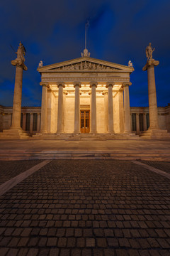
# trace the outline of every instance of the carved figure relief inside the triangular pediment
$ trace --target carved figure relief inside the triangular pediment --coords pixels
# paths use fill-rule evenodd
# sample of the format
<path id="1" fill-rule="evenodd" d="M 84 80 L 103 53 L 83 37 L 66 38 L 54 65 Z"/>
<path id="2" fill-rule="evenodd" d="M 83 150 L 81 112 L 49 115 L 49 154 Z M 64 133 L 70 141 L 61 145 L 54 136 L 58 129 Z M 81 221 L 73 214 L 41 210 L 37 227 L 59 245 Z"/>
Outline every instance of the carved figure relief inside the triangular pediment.
<path id="1" fill-rule="evenodd" d="M 111 68 L 107 65 L 92 63 L 85 60 L 76 64 L 63 65 L 60 68 L 55 68 L 55 70 L 118 70 L 118 68 Z"/>

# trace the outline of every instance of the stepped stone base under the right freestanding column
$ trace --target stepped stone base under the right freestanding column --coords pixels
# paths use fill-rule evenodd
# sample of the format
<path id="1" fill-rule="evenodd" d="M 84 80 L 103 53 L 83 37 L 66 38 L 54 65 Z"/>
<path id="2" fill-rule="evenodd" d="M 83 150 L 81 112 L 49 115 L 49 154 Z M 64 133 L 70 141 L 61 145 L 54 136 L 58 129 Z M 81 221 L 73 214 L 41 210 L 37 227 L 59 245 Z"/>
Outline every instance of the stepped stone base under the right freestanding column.
<path id="1" fill-rule="evenodd" d="M 142 132 L 140 137 L 142 137 L 142 139 L 170 139 L 170 134 L 167 130 L 148 129 L 147 131 Z"/>

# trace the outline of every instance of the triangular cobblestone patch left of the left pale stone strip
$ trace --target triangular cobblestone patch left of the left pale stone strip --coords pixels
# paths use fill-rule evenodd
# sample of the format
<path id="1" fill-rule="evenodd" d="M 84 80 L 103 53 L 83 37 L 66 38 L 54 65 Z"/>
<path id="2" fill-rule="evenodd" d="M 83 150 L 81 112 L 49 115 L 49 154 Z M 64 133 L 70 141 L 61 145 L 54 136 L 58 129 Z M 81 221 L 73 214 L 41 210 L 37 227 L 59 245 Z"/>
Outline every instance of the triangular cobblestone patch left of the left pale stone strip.
<path id="1" fill-rule="evenodd" d="M 0 161 L 0 185 L 40 162 L 42 160 Z"/>

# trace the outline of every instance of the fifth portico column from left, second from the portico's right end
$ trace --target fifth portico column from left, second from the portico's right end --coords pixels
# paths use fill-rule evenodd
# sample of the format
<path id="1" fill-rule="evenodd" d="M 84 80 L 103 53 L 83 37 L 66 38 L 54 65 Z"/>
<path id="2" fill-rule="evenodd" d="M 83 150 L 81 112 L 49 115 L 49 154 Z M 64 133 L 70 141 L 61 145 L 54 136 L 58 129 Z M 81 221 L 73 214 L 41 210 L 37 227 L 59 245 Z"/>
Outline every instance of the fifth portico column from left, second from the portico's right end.
<path id="1" fill-rule="evenodd" d="M 108 132 L 113 133 L 113 82 L 107 82 L 108 88 Z"/>

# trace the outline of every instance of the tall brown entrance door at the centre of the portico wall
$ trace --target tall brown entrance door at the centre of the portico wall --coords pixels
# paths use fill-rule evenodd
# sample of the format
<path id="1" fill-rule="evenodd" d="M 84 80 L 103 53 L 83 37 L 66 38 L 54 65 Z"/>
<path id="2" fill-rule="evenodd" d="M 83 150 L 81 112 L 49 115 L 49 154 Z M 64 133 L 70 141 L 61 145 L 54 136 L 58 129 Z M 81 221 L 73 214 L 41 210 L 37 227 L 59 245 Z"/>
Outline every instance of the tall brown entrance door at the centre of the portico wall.
<path id="1" fill-rule="evenodd" d="M 89 133 L 90 132 L 90 110 L 80 110 L 80 132 Z"/>

